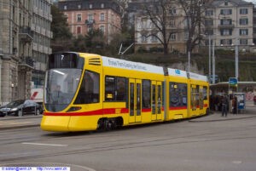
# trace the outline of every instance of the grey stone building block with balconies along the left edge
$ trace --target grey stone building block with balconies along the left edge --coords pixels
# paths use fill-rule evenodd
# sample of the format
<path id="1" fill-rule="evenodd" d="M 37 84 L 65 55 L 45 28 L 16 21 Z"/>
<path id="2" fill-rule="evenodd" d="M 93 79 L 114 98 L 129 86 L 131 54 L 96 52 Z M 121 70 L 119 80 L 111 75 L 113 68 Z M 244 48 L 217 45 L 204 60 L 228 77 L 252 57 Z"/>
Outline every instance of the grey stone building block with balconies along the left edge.
<path id="1" fill-rule="evenodd" d="M 0 105 L 29 99 L 34 69 L 45 70 L 46 55 L 51 53 L 51 3 L 0 0 Z"/>

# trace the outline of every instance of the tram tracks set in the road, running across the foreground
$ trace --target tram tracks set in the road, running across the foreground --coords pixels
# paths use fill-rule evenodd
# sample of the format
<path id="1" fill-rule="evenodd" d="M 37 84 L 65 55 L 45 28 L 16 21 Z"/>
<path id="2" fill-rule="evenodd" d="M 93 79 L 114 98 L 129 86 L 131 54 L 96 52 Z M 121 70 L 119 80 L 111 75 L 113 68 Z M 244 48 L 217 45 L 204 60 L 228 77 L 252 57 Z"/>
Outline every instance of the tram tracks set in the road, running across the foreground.
<path id="1" fill-rule="evenodd" d="M 253 129 L 253 128 L 252 128 Z M 246 131 L 248 128 L 236 128 L 229 130 L 225 134 L 230 134 L 232 132 L 237 132 L 237 131 Z M 111 133 L 111 132 L 110 132 Z M 101 152 L 101 151 L 114 151 L 114 150 L 123 150 L 123 149 L 129 149 L 129 148 L 142 148 L 142 147 L 150 147 L 150 146 L 155 146 L 155 145 L 177 145 L 177 144 L 186 144 L 186 143 L 197 143 L 197 142 L 208 142 L 208 141 L 219 141 L 219 140 L 244 140 L 244 139 L 256 139 L 256 136 L 242 136 L 239 135 L 235 138 L 221 138 L 219 139 L 218 137 L 213 137 L 212 135 L 219 134 L 219 131 L 211 131 L 208 133 L 203 133 L 203 134 L 189 134 L 185 136 L 176 136 L 176 137 L 169 137 L 169 138 L 162 138 L 158 139 L 156 136 L 155 137 L 150 137 L 151 140 L 147 140 L 147 138 L 144 138 L 144 140 L 137 141 L 137 138 L 132 139 L 133 142 L 127 142 L 127 140 L 110 140 L 110 141 L 105 141 L 105 142 L 98 142 L 98 143 L 93 143 L 96 146 L 89 146 L 90 144 L 86 144 L 84 146 L 83 144 L 81 145 L 69 145 L 67 150 L 63 151 L 55 151 L 52 153 L 52 151 L 44 151 L 44 154 L 32 154 L 29 153 L 29 156 L 23 156 L 23 157 L 9 157 L 9 158 L 4 158 L 2 159 L 3 162 L 10 162 L 10 161 L 20 161 L 20 160 L 29 160 L 29 159 L 34 159 L 34 158 L 41 158 L 41 157 L 58 157 L 58 156 L 66 156 L 66 155 L 75 155 L 75 154 L 86 154 L 86 153 L 91 153 L 91 152 Z M 208 136 L 207 138 L 204 137 L 202 140 L 183 140 L 183 139 L 193 139 L 193 138 L 200 138 L 202 136 Z M 109 134 L 107 134 L 109 136 Z M 114 135 L 116 136 L 116 135 Z M 73 138 L 73 136 L 71 137 Z M 79 137 L 79 139 L 84 138 L 84 137 Z M 152 140 L 154 138 L 154 140 Z M 145 140 L 146 139 L 146 140 Z M 180 140 L 179 140 L 180 139 Z M 165 142 L 171 140 L 172 142 Z M 125 142 L 126 143 L 125 143 Z M 34 141 L 29 141 L 29 142 L 34 142 Z M 109 145 L 109 143 L 114 143 L 113 145 Z M 38 151 L 42 152 L 42 151 Z M 51 152 L 51 153 L 50 153 Z M 26 155 L 26 154 L 25 154 Z"/>

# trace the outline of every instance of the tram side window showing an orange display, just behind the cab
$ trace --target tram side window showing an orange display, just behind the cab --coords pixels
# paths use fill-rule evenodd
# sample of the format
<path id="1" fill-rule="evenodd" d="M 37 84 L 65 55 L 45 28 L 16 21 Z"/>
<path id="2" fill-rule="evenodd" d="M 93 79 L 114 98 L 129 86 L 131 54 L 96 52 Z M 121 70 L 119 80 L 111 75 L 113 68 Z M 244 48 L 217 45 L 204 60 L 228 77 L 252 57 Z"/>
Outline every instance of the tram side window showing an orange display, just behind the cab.
<path id="1" fill-rule="evenodd" d="M 105 100 L 106 101 L 115 100 L 115 77 L 105 78 Z"/>

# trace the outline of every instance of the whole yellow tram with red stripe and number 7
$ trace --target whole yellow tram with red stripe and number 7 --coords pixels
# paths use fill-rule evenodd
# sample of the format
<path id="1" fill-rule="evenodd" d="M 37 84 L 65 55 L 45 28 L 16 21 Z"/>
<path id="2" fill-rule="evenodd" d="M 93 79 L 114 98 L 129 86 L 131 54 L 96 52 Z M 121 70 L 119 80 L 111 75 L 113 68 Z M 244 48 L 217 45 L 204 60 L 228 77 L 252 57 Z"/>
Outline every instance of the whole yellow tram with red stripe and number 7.
<path id="1" fill-rule="evenodd" d="M 46 131 L 85 131 L 196 117 L 209 111 L 207 77 L 84 53 L 49 55 Z"/>

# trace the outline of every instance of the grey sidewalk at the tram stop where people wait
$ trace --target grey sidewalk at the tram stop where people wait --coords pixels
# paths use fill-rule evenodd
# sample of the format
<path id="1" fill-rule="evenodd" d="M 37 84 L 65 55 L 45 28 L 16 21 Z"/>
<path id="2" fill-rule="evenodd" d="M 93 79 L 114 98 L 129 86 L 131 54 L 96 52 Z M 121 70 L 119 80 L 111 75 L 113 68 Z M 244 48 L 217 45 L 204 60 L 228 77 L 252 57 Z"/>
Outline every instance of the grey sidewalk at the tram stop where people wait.
<path id="1" fill-rule="evenodd" d="M 200 122 L 218 122 L 218 121 L 227 121 L 227 120 L 238 120 L 256 117 L 256 107 L 255 106 L 247 106 L 246 112 L 233 115 L 232 113 L 228 113 L 227 117 L 221 116 L 221 111 L 212 111 L 213 113 L 208 116 L 196 117 L 189 120 L 191 123 L 200 123 Z"/>

